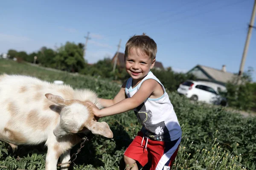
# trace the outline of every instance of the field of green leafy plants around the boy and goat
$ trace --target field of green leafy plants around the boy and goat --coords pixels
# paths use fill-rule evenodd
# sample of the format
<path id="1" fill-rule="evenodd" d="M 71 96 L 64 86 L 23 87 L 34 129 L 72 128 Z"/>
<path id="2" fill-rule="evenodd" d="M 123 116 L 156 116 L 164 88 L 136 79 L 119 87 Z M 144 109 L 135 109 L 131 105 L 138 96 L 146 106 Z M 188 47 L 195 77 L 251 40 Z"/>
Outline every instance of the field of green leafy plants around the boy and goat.
<path id="1" fill-rule="evenodd" d="M 23 74 L 53 82 L 62 80 L 73 88 L 90 88 L 100 97 L 111 99 L 120 85 L 108 79 L 79 76 L 65 72 L 0 59 L 0 74 Z M 189 102 L 183 96 L 170 92 L 183 139 L 173 164 L 173 170 L 255 170 L 256 169 L 256 117 L 244 118 L 221 107 L 207 107 Z M 86 142 L 70 169 L 124 170 L 123 153 L 141 126 L 133 111 L 109 116 L 106 121 L 113 131 L 113 139 L 94 136 Z M 75 153 L 80 144 L 71 150 Z M 8 170 L 41 170 L 45 166 L 44 144 L 19 146 L 14 153 L 5 142 L 0 142 L 0 166 Z M 143 168 L 147 170 L 150 162 Z M 0 167 L 0 170 L 6 168 Z M 60 169 L 58 167 L 58 169 Z"/>

